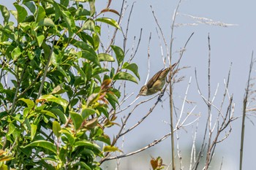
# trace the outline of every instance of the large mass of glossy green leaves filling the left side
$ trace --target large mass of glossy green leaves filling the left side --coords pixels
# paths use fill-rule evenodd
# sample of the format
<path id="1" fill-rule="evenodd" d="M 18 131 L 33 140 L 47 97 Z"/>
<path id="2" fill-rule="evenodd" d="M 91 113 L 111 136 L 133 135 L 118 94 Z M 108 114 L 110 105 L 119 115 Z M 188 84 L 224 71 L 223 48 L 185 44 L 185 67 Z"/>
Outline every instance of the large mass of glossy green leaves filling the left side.
<path id="1" fill-rule="evenodd" d="M 97 160 L 118 150 L 104 133 L 116 124 L 121 93 L 113 85 L 140 77 L 120 47 L 110 46 L 115 58 L 99 50 L 99 24 L 120 29 L 100 17 L 118 15 L 110 2 L 99 15 L 87 0 L 0 5 L 1 169 L 100 169 Z"/>

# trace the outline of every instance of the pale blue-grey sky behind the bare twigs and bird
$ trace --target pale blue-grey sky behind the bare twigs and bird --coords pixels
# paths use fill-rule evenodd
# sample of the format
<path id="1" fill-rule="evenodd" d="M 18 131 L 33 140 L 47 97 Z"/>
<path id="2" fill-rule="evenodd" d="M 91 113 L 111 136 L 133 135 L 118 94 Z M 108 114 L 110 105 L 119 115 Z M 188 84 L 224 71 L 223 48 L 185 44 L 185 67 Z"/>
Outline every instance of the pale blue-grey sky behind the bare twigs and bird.
<path id="1" fill-rule="evenodd" d="M 127 1 L 129 5 L 127 12 L 123 19 L 121 26 L 126 28 L 126 20 L 129 15 L 129 10 L 132 7 L 134 1 Z M 4 4 L 8 9 L 14 9 L 12 6 L 13 0 L 1 0 L 0 4 Z M 162 31 L 165 34 L 167 43 L 170 44 L 170 25 L 172 23 L 172 17 L 174 9 L 176 8 L 178 1 L 154 1 L 154 0 L 139 0 L 135 2 L 132 17 L 129 23 L 129 39 L 127 40 L 127 47 L 131 49 L 133 36 L 136 36 L 136 44 L 138 42 L 138 36 L 140 34 L 140 28 L 143 28 L 143 36 L 141 38 L 140 47 L 138 53 L 135 56 L 133 62 L 138 63 L 141 80 L 139 85 L 134 83 L 127 84 L 127 92 L 134 92 L 131 101 L 135 98 L 140 87 L 146 80 L 147 69 L 147 53 L 148 53 L 148 37 L 152 34 L 151 38 L 151 69 L 150 75 L 152 76 L 159 69 L 163 68 L 161 50 L 159 47 L 159 39 L 157 37 L 156 27 L 157 24 L 154 21 L 154 17 L 151 13 L 150 5 L 153 7 L 155 15 L 159 21 L 159 25 L 162 27 Z M 105 7 L 106 1 L 97 1 L 98 11 Z M 121 0 L 112 1 L 110 8 L 120 10 Z M 183 82 L 175 85 L 174 98 L 176 107 L 180 109 L 184 93 L 189 82 L 189 77 L 192 77 L 191 86 L 187 99 L 189 101 L 195 101 L 195 104 L 186 104 L 184 112 L 189 112 L 192 107 L 197 106 L 194 113 L 203 115 L 200 118 L 197 134 L 197 144 L 201 144 L 203 138 L 203 130 L 205 128 L 207 107 L 203 100 L 197 93 L 197 85 L 195 82 L 195 68 L 197 69 L 197 78 L 200 84 L 202 93 L 207 96 L 207 72 L 208 72 L 208 34 L 211 38 L 211 96 L 214 95 L 217 84 L 219 83 L 219 90 L 217 98 L 214 104 L 219 106 L 222 95 L 224 92 L 224 79 L 227 78 L 227 72 L 230 68 L 230 63 L 233 63 L 230 76 L 229 93 L 233 94 L 235 107 L 235 116 L 240 117 L 242 111 L 242 102 L 244 98 L 244 89 L 246 87 L 246 80 L 249 72 L 249 61 L 251 58 L 252 50 L 256 49 L 255 37 L 256 37 L 256 1 L 238 1 L 238 0 L 226 0 L 226 1 L 205 1 L 205 0 L 184 0 L 178 9 L 178 12 L 186 15 L 193 15 L 200 18 L 209 18 L 214 21 L 221 21 L 223 23 L 237 24 L 237 26 L 230 26 L 227 28 L 219 26 L 208 26 L 206 24 L 199 24 L 198 26 L 181 26 L 176 27 L 174 31 L 173 52 L 180 50 L 187 42 L 188 37 L 192 32 L 195 34 L 190 39 L 187 45 L 184 57 L 181 60 L 180 66 L 190 66 L 189 69 L 184 69 L 179 72 L 178 75 L 185 76 Z M 2 23 L 2 18 L 0 19 Z M 186 17 L 184 15 L 178 15 L 176 23 L 197 23 L 196 20 Z M 116 45 L 122 46 L 122 38 L 116 39 Z M 162 43 L 163 47 L 164 44 Z M 130 51 L 129 51 L 130 52 Z M 127 58 L 129 58 L 129 53 Z M 178 53 L 173 55 L 173 61 L 177 61 Z M 252 72 L 252 77 L 255 77 L 255 70 Z M 141 97 L 138 101 L 148 97 Z M 149 117 L 134 131 L 131 131 L 124 137 L 124 148 L 121 150 L 124 153 L 128 153 L 134 150 L 138 150 L 140 147 L 144 147 L 147 144 L 159 139 L 170 131 L 169 125 L 169 105 L 168 101 L 164 101 L 167 98 L 167 94 L 162 98 L 162 104 L 154 109 Z M 127 128 L 140 120 L 143 115 L 146 114 L 148 108 L 154 104 L 156 98 L 146 104 L 143 104 L 135 110 L 131 119 L 127 123 Z M 252 106 L 252 104 L 251 104 Z M 212 109 L 217 114 L 215 109 Z M 125 111 L 123 115 L 127 115 L 129 110 Z M 255 118 L 250 117 L 255 123 Z M 195 116 L 191 120 L 194 120 Z M 195 125 L 181 129 L 179 131 L 181 154 L 186 160 L 190 154 L 192 146 L 192 132 L 195 131 Z M 225 170 L 237 170 L 239 166 L 239 150 L 240 150 L 240 135 L 241 135 L 241 118 L 233 122 L 233 131 L 230 136 L 222 142 L 217 144 L 216 149 L 216 161 L 215 165 L 211 169 L 219 169 L 222 157 L 223 165 L 222 169 Z M 117 127 L 118 128 L 118 127 Z M 115 129 L 109 131 L 109 134 L 115 134 Z M 110 135 L 111 136 L 111 135 Z M 246 119 L 246 131 L 245 131 L 245 143 L 244 143 L 244 169 L 252 169 L 255 167 L 255 126 Z M 186 151 L 189 150 L 189 153 Z M 131 156 L 124 158 L 120 161 L 120 169 L 150 169 L 151 156 L 156 158 L 162 156 L 165 164 L 170 163 L 170 138 L 165 139 L 164 142 L 157 144 L 155 147 L 148 150 L 148 152 L 139 153 L 137 156 Z M 184 161 L 184 164 L 186 161 Z M 185 165 L 186 166 L 186 165 Z M 102 166 L 102 169 L 114 169 L 116 166 L 106 165 Z"/>

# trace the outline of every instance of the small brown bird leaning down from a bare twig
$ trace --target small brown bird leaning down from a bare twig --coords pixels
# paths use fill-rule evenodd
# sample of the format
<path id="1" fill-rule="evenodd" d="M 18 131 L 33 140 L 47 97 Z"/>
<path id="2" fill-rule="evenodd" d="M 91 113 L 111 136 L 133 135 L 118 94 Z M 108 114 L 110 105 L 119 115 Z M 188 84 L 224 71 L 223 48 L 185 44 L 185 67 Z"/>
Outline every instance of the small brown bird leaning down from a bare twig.
<path id="1" fill-rule="evenodd" d="M 176 66 L 176 64 L 177 63 L 174 63 L 173 66 L 162 69 L 157 72 L 157 74 L 154 74 L 154 76 L 146 83 L 146 85 L 143 85 L 142 88 L 140 88 L 140 93 L 138 96 L 148 96 L 157 93 L 159 90 L 162 90 L 165 85 L 167 74 L 170 72 L 170 69 L 173 69 Z"/>

